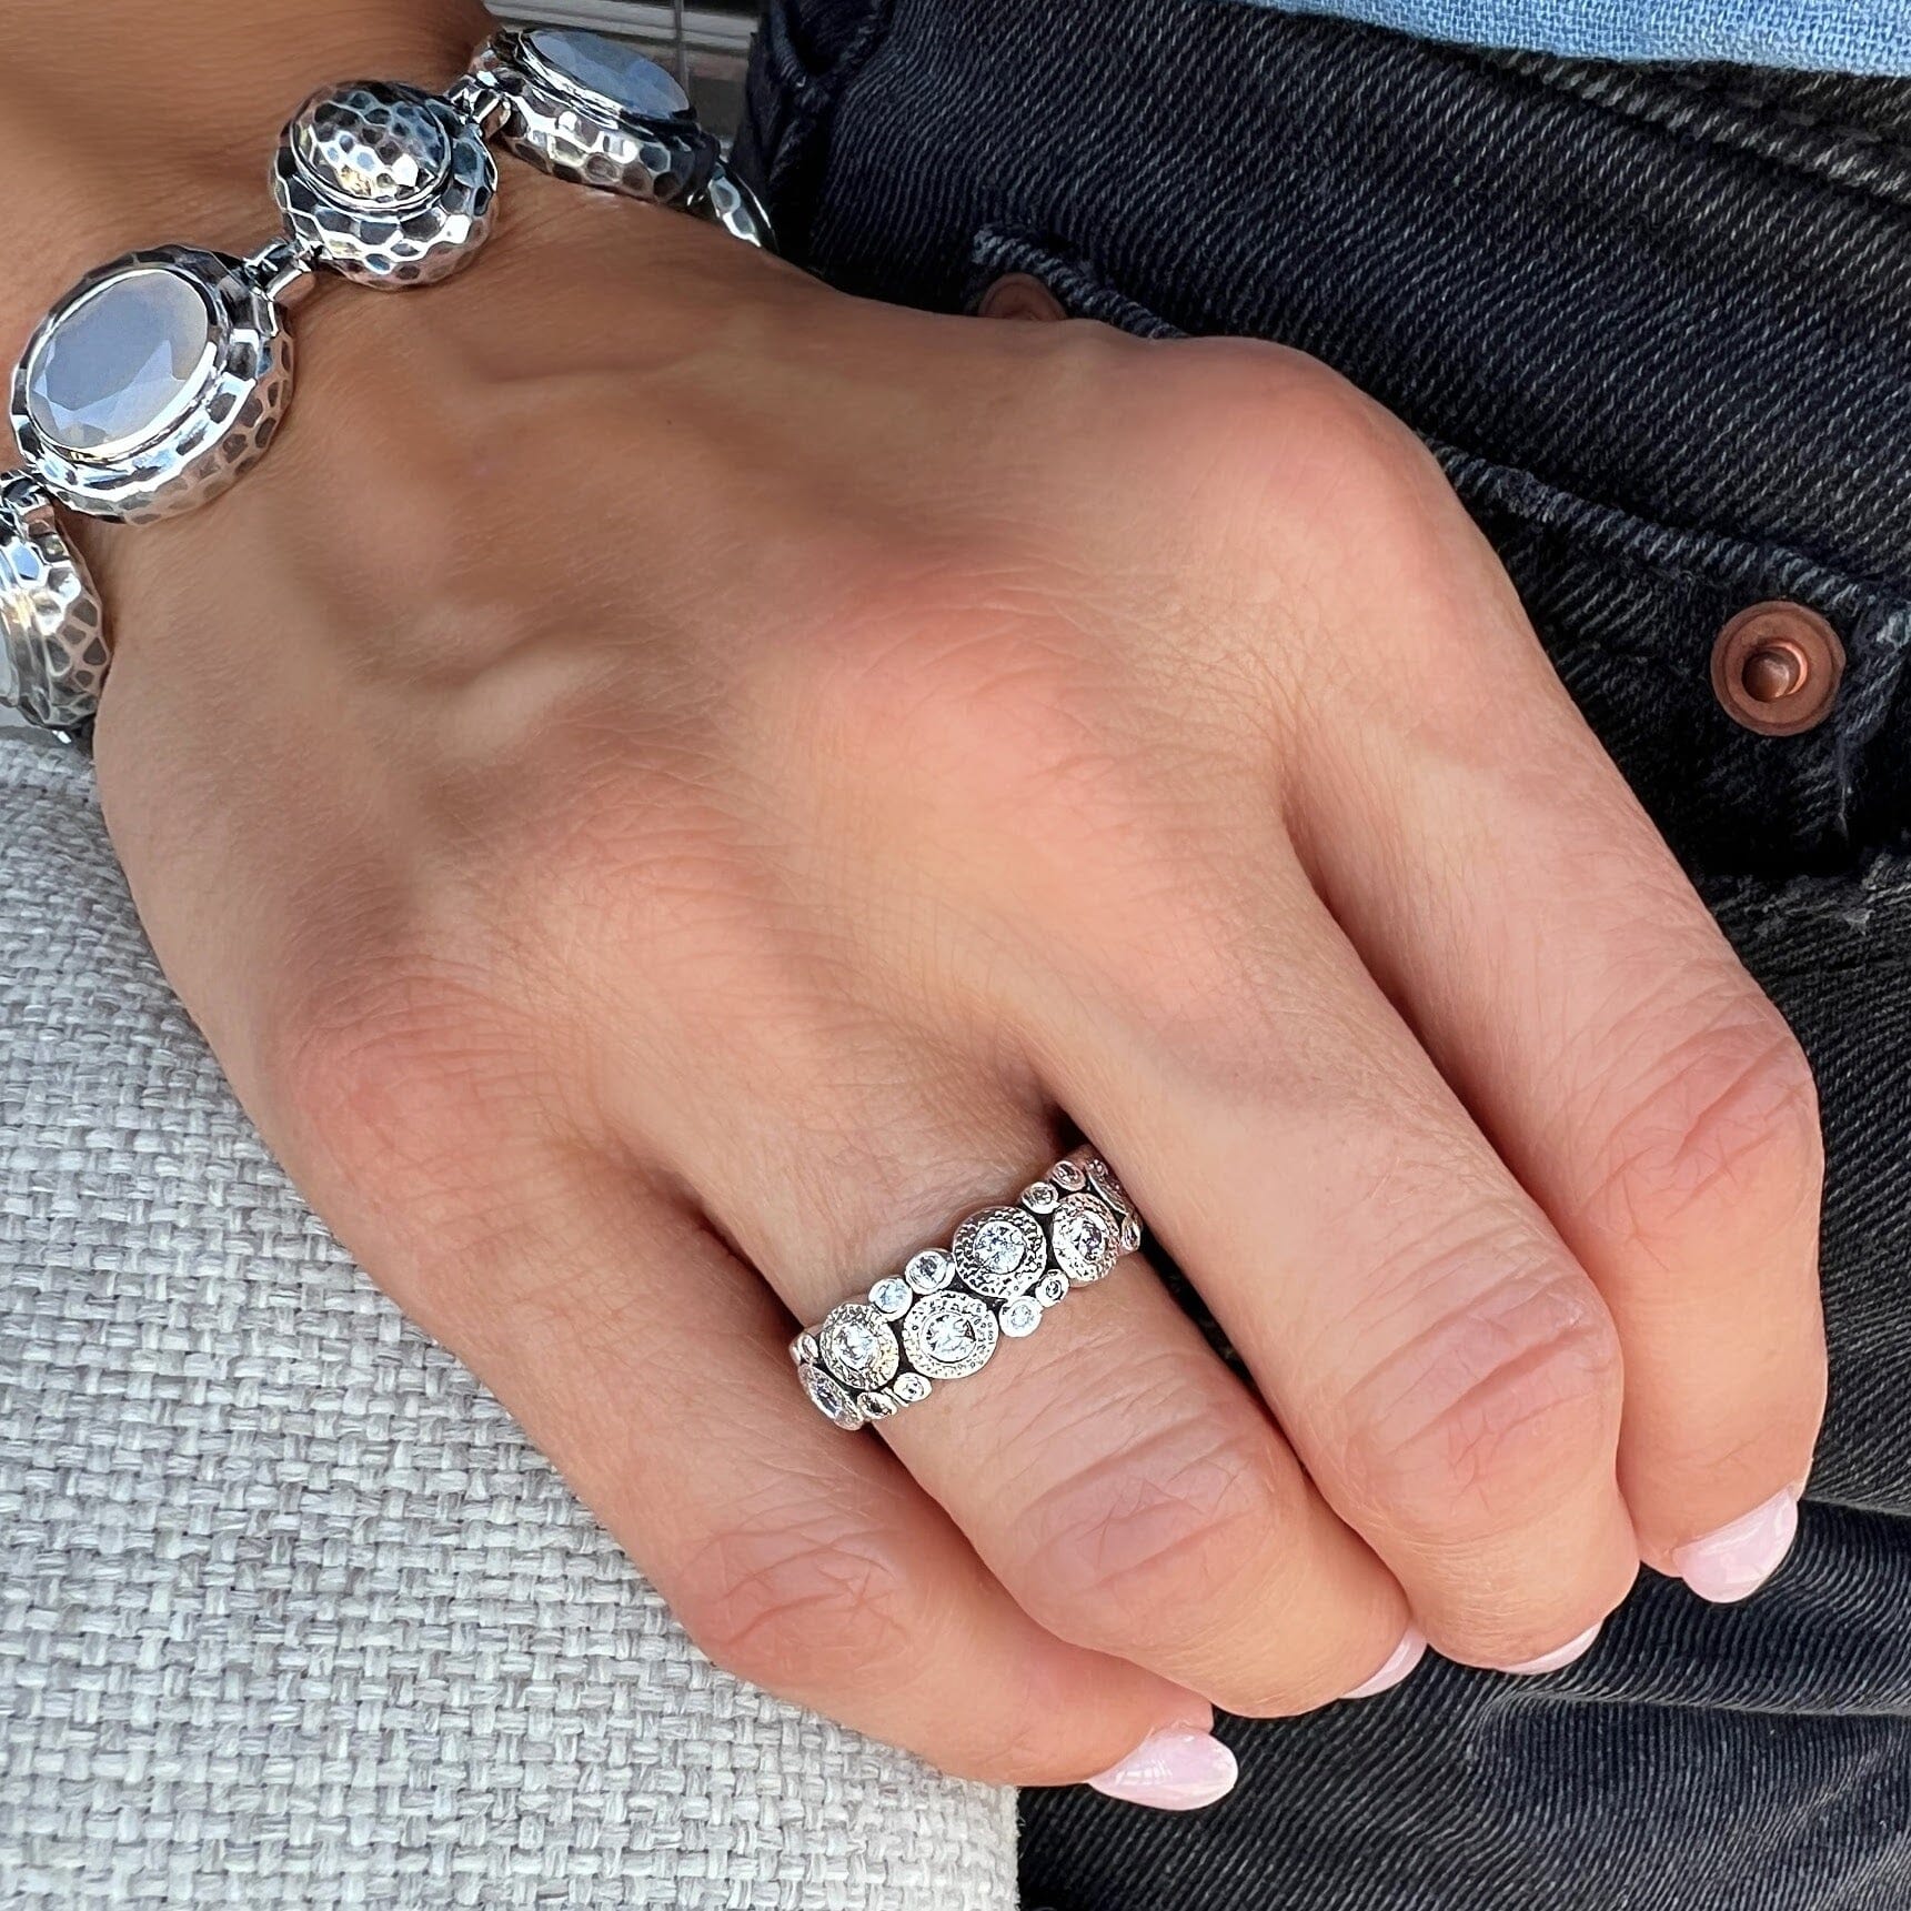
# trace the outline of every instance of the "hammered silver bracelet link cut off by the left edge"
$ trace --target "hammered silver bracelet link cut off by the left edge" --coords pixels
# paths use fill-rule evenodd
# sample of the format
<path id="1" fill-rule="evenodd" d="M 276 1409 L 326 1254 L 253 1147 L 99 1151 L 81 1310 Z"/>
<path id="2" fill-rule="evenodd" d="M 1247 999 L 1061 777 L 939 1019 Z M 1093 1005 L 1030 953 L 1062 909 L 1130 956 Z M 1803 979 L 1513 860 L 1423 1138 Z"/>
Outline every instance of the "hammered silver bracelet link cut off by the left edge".
<path id="1" fill-rule="evenodd" d="M 111 661 L 105 606 L 52 499 L 31 478 L 0 478 L 0 703 L 78 736 Z"/>

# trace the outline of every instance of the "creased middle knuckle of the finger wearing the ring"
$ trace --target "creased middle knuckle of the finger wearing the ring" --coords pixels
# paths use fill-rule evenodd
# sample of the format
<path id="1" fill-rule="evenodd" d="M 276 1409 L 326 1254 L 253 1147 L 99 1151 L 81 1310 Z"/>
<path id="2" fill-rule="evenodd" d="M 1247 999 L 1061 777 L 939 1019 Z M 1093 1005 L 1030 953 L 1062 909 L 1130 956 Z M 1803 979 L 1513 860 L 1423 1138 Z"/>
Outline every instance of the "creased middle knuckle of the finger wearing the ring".
<path id="1" fill-rule="evenodd" d="M 1024 1605 L 1085 1645 L 1168 1649 L 1259 1601 L 1292 1510 L 1248 1416 L 1173 1412 L 1051 1485 L 1022 1523 Z"/>

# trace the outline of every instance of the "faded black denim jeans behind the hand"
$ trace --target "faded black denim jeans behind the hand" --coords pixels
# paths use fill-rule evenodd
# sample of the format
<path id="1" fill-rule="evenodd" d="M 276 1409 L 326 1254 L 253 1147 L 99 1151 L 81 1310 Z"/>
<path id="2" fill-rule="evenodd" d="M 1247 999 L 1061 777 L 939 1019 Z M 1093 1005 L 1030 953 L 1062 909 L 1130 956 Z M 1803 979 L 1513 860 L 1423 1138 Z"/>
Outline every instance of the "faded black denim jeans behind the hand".
<path id="1" fill-rule="evenodd" d="M 1221 1726 L 1191 1819 L 1024 1796 L 1059 1911 L 1911 1905 L 1911 84 L 1567 67 L 1215 0 L 776 0 L 745 164 L 837 285 L 1040 273 L 1252 333 L 1426 434 L 1819 1072 L 1831 1418 L 1743 1607 L 1647 1575 L 1578 1664 Z M 1741 728 L 1720 627 L 1850 667 Z M 1269 1613 L 1269 1624 L 1280 1624 Z"/>

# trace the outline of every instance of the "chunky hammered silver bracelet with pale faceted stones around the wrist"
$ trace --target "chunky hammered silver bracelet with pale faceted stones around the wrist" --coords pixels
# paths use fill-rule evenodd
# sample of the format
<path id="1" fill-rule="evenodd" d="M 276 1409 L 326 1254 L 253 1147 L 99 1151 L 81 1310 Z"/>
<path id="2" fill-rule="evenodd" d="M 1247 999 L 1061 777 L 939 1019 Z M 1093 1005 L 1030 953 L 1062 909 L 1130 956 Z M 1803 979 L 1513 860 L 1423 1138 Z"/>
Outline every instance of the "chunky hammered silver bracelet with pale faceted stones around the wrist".
<path id="1" fill-rule="evenodd" d="M 55 506 L 145 524 L 250 470 L 290 399 L 294 294 L 319 271 L 403 290 L 468 266 L 491 235 L 491 140 L 560 180 L 774 250 L 768 216 L 684 90 L 604 34 L 501 31 L 443 94 L 321 88 L 279 138 L 273 239 L 247 256 L 128 252 L 34 327 L 11 384 L 21 468 L 0 470 L 0 701 L 84 738 L 113 644 Z"/>

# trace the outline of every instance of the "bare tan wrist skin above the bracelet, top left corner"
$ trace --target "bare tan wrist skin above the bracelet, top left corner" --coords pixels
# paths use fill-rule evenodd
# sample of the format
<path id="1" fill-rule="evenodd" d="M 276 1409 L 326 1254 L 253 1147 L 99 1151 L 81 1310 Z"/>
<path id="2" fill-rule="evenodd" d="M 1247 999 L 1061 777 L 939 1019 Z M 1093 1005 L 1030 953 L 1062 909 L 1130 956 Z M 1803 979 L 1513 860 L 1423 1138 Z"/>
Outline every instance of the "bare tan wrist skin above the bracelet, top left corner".
<path id="1" fill-rule="evenodd" d="M 449 82 L 489 31 L 476 0 L 0 0 L 0 357 L 88 266 L 275 229 L 266 161 L 313 88 Z M 78 136 L 76 136 L 78 134 Z"/>

